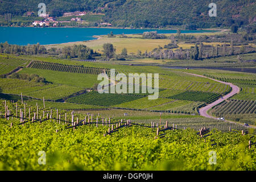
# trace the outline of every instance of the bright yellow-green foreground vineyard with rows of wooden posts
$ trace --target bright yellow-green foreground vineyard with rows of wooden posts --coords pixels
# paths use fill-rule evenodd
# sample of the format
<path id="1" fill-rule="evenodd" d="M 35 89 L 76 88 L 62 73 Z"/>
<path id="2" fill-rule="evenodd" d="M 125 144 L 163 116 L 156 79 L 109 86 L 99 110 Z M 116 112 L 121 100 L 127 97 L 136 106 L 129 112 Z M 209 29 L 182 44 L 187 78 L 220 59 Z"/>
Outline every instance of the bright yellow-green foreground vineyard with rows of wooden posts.
<path id="1" fill-rule="evenodd" d="M 3 100 L 0 111 L 1 170 L 256 169 L 247 131 L 198 132 L 165 121 L 139 124 L 21 102 L 5 108 Z M 38 164 L 39 151 L 46 152 L 46 165 Z M 209 164 L 210 151 L 217 154 L 215 165 Z"/>

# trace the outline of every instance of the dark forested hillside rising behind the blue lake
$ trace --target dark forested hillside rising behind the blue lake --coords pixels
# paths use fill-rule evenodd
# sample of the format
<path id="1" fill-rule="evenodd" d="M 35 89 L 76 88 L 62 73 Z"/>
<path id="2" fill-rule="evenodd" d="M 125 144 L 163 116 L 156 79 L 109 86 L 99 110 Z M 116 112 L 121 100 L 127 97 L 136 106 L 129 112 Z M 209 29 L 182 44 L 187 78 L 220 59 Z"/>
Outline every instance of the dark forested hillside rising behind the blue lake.
<path id="1" fill-rule="evenodd" d="M 225 0 L 214 1 L 217 5 L 217 17 L 209 17 L 207 0 L 9 0 L 0 1 L 0 14 L 23 15 L 27 11 L 38 11 L 38 3 L 46 3 L 52 16 L 61 16 L 65 12 L 91 11 L 105 13 L 105 21 L 114 26 L 123 27 L 168 27 L 183 28 L 227 27 L 232 24 L 255 23 L 255 1 Z M 99 7 L 102 7 L 99 9 Z"/>

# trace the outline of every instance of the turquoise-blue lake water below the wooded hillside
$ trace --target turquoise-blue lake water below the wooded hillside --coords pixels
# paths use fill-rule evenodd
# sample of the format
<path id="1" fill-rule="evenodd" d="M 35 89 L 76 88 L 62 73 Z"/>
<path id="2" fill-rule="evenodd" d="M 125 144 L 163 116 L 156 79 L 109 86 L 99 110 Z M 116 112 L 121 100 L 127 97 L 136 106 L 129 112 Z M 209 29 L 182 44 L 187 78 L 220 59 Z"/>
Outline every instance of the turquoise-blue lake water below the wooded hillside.
<path id="1" fill-rule="evenodd" d="M 157 31 L 159 34 L 175 34 L 176 30 L 143 30 L 123 28 L 40 28 L 40 27 L 0 27 L 0 43 L 27 45 L 40 43 L 60 44 L 93 40 L 93 35 L 142 34 L 146 31 Z M 183 30 L 181 33 L 213 32 L 207 30 Z"/>

